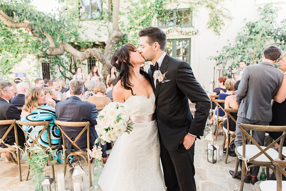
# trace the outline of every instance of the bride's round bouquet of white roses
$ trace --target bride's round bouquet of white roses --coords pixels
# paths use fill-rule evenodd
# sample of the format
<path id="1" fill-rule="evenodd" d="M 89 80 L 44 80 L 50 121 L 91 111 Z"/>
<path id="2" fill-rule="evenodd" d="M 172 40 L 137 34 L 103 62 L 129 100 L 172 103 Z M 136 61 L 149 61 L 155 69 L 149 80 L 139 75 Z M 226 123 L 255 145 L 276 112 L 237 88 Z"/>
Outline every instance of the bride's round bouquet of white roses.
<path id="1" fill-rule="evenodd" d="M 131 107 L 128 103 L 120 103 L 114 101 L 106 105 L 98 115 L 96 119 L 97 125 L 95 130 L 98 138 L 95 142 L 101 142 L 105 144 L 115 141 L 117 137 L 120 137 L 124 132 L 128 134 L 132 131 L 133 122 L 130 121 L 129 112 Z"/>

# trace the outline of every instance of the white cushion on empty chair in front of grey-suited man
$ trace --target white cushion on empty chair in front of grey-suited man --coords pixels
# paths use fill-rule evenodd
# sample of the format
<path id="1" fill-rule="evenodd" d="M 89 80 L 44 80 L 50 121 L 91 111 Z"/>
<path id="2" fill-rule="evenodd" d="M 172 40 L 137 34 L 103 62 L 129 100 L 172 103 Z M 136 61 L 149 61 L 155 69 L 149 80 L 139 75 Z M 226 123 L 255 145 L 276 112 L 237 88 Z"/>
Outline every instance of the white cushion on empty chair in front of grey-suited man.
<path id="1" fill-rule="evenodd" d="M 262 149 L 265 149 L 266 147 L 261 146 Z M 237 147 L 237 152 L 242 156 L 242 150 L 243 150 L 243 146 L 239 146 Z M 251 158 L 254 155 L 256 155 L 257 153 L 259 153 L 260 150 L 254 145 L 254 144 L 247 144 L 245 145 L 245 158 Z M 266 153 L 273 159 L 275 160 L 276 158 L 279 158 L 279 153 L 270 148 L 266 151 Z M 255 158 L 253 161 L 257 161 L 257 162 L 271 162 L 267 156 L 265 156 L 263 153 L 262 155 L 260 155 L 259 157 Z"/>

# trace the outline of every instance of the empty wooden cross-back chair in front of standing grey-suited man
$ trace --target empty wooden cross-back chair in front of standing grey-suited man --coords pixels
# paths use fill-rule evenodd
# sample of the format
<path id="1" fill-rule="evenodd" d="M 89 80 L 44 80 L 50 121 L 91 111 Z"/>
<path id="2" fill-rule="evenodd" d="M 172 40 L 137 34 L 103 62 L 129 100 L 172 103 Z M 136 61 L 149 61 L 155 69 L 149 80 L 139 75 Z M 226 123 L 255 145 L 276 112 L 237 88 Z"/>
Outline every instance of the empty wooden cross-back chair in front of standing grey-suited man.
<path id="1" fill-rule="evenodd" d="M 235 148 L 235 153 L 237 155 L 236 160 L 236 168 L 234 171 L 234 175 L 232 178 L 235 178 L 235 175 L 237 174 L 239 161 L 242 160 L 242 173 L 241 173 L 241 185 L 240 185 L 240 191 L 243 191 L 243 185 L 244 185 L 244 175 L 247 174 L 245 172 L 245 163 L 251 163 L 251 165 L 247 166 L 247 169 L 250 169 L 254 166 L 264 166 L 266 167 L 266 177 L 267 180 L 270 180 L 270 178 L 273 178 L 272 176 L 269 177 L 269 168 L 273 170 L 274 174 L 276 174 L 275 166 L 273 165 L 273 161 L 276 158 L 282 159 L 282 147 L 286 136 L 286 126 L 267 126 L 267 125 L 249 125 L 249 124 L 239 124 L 238 127 L 241 130 L 242 133 L 242 146 Z M 252 130 L 252 131 L 283 131 L 283 134 L 277 138 L 275 141 L 273 141 L 268 147 L 260 146 L 249 133 L 247 133 L 245 130 Z M 249 140 L 254 144 L 248 144 L 246 145 L 245 138 L 248 137 Z M 279 152 L 272 149 L 273 145 L 280 141 L 279 144 Z"/>

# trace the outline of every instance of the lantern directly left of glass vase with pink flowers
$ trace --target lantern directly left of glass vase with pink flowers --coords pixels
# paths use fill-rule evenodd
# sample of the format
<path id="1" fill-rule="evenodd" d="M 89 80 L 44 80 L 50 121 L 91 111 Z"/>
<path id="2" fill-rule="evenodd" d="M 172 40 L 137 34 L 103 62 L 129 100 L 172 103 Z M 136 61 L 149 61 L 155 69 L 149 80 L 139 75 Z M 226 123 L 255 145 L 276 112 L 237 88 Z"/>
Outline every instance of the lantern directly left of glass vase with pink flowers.
<path id="1" fill-rule="evenodd" d="M 83 171 L 83 168 L 80 167 L 80 161 L 74 162 L 72 166 L 73 168 L 69 171 L 71 179 L 71 190 L 81 191 L 80 184 L 85 181 L 85 172 Z"/>

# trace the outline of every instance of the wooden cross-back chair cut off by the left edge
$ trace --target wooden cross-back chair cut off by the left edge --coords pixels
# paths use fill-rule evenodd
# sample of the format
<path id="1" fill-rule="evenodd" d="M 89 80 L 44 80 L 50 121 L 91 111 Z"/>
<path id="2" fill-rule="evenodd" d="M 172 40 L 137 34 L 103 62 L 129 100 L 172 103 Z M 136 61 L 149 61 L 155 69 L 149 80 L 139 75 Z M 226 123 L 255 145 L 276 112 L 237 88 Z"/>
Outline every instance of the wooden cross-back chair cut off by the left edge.
<path id="1" fill-rule="evenodd" d="M 15 145 L 10 145 L 10 144 L 4 143 L 4 139 L 6 138 L 8 133 L 10 133 L 12 128 L 14 128 L 16 147 L 19 147 L 16 120 L 15 119 L 14 120 L 0 120 L 0 125 L 9 125 L 9 124 L 10 124 L 10 127 L 5 132 L 5 134 L 0 138 L 0 142 L 3 143 L 7 148 L 0 148 L 0 153 L 6 153 L 6 152 L 11 153 L 10 156 L 11 156 L 12 161 L 18 165 L 19 180 L 22 181 L 20 151 L 18 151 L 18 148 L 15 148 Z M 16 161 L 14 160 L 13 156 L 15 158 L 17 158 Z"/>

